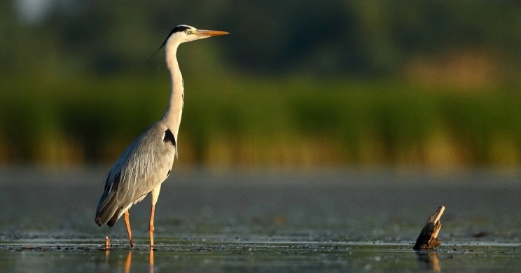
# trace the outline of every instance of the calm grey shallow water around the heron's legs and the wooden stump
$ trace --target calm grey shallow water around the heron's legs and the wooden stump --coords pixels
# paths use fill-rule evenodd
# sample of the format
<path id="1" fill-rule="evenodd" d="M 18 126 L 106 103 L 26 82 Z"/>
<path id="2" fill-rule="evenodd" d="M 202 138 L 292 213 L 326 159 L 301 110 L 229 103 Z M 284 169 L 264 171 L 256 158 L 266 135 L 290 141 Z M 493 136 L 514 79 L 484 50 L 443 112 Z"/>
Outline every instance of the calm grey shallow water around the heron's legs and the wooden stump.
<path id="1" fill-rule="evenodd" d="M 177 170 L 162 186 L 155 251 L 149 199 L 98 228 L 105 168 L 0 169 L 1 272 L 494 271 L 521 267 L 521 175 L 385 169 Z M 430 214 L 442 245 L 412 244 Z M 110 251 L 102 251 L 104 237 Z"/>

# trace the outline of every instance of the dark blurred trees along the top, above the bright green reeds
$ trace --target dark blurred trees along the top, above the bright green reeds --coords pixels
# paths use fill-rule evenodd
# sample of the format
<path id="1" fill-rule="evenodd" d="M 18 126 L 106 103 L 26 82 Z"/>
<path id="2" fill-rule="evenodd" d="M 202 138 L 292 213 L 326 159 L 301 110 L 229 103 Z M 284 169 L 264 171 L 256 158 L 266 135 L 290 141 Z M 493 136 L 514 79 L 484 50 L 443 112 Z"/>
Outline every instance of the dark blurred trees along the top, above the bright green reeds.
<path id="1" fill-rule="evenodd" d="M 146 57 L 183 23 L 230 31 L 219 55 L 256 74 L 396 75 L 412 58 L 461 50 L 519 69 L 515 1 L 48 2 L 33 23 L 13 12 L 15 0 L 1 3 L 0 69 L 143 73 Z"/>

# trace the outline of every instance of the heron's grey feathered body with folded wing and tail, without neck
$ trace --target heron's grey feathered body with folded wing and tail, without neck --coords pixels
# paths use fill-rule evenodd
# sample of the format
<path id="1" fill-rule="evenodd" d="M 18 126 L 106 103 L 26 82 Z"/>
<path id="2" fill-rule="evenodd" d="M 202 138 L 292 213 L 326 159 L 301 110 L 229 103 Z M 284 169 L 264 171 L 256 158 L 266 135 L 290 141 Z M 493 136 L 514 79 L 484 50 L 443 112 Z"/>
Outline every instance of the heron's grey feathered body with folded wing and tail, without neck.
<path id="1" fill-rule="evenodd" d="M 156 123 L 128 146 L 106 176 L 96 209 L 96 223 L 114 225 L 135 204 L 165 181 L 174 163 L 176 140 Z"/>

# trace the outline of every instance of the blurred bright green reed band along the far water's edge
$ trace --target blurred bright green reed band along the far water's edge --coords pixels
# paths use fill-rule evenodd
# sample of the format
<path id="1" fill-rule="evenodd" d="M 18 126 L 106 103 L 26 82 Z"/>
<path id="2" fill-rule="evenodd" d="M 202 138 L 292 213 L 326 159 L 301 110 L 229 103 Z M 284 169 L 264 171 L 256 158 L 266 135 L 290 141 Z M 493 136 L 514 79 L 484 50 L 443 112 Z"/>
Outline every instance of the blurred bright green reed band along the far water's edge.
<path id="1" fill-rule="evenodd" d="M 521 95 L 508 87 L 469 93 L 385 80 L 185 78 L 181 164 L 513 167 L 521 160 Z M 0 102 L 2 162 L 109 163 L 162 115 L 169 92 L 167 75 L 4 83 L 13 92 Z"/>

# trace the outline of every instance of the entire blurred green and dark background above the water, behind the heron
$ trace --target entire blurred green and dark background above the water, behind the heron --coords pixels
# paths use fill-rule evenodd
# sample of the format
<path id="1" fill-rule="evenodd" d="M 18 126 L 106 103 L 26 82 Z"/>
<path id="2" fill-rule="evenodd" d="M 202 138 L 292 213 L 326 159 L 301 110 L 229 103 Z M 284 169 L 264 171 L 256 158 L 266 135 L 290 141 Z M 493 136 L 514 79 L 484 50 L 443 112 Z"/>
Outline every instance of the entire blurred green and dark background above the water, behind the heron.
<path id="1" fill-rule="evenodd" d="M 519 1 L 0 2 L 0 165 L 110 165 L 167 106 L 176 165 L 521 164 Z"/>

